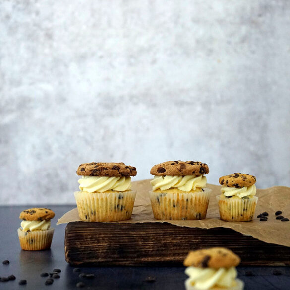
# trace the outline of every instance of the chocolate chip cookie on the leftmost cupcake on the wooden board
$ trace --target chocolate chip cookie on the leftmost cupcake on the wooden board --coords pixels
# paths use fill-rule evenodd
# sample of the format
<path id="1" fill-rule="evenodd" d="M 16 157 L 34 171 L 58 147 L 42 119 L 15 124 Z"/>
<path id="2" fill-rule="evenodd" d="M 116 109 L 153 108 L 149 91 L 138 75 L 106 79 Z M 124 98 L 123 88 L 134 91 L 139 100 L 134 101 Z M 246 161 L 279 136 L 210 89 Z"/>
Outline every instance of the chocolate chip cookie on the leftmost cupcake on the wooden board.
<path id="1" fill-rule="evenodd" d="M 137 174 L 136 167 L 125 165 L 123 162 L 91 162 L 81 164 L 77 175 L 129 177 Z"/>

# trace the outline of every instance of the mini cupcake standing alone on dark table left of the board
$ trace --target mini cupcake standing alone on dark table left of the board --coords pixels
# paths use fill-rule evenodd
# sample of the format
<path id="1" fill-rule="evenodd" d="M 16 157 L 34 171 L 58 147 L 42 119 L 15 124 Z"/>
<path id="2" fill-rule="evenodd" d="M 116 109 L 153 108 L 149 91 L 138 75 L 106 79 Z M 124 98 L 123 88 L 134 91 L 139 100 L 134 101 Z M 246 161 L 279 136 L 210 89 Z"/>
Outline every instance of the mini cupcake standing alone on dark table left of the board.
<path id="1" fill-rule="evenodd" d="M 22 250 L 40 251 L 51 247 L 54 229 L 51 219 L 55 213 L 48 208 L 30 208 L 20 213 L 22 220 L 18 237 Z"/>

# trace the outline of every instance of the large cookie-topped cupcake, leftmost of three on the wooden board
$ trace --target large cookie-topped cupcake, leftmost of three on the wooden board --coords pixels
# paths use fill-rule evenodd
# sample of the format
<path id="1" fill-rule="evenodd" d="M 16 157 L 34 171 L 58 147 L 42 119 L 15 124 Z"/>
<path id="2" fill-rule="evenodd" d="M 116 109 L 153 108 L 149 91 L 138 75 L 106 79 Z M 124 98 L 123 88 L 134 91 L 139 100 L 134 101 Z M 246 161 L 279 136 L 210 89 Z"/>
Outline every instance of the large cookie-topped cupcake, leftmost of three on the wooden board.
<path id="1" fill-rule="evenodd" d="M 79 217 L 87 222 L 114 222 L 131 218 L 136 191 L 130 190 L 136 167 L 124 163 L 81 164 L 76 173 L 80 191 L 74 193 Z"/>

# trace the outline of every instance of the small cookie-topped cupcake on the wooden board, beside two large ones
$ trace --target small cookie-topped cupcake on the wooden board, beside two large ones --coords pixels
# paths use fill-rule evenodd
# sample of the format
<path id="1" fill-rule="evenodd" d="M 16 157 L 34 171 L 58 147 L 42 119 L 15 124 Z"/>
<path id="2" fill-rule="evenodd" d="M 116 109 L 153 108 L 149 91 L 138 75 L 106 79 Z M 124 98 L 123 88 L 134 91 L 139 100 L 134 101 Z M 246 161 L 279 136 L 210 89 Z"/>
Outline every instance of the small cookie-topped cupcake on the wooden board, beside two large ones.
<path id="1" fill-rule="evenodd" d="M 234 173 L 219 179 L 222 194 L 217 196 L 220 217 L 224 221 L 251 221 L 258 201 L 256 177 Z"/>

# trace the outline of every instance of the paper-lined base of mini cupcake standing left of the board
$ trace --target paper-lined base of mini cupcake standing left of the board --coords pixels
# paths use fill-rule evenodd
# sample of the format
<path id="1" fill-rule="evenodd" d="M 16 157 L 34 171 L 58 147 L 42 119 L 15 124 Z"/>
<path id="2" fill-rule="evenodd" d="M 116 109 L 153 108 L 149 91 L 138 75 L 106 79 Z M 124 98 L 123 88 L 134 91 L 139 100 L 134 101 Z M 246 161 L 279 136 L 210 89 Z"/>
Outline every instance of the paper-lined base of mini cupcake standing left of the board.
<path id="1" fill-rule="evenodd" d="M 40 251 L 51 247 L 55 229 L 44 231 L 22 231 L 17 230 L 22 250 Z"/>

